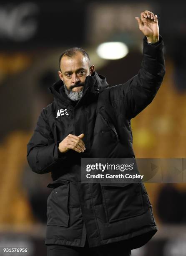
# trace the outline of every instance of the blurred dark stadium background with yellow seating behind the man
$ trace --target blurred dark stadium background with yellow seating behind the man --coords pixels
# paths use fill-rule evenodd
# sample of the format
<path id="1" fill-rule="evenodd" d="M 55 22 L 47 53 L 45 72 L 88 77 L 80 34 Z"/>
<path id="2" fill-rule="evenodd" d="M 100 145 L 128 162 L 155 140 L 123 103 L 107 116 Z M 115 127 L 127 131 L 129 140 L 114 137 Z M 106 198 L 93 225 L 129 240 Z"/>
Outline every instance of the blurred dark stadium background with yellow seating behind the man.
<path id="1" fill-rule="evenodd" d="M 40 111 L 53 101 L 48 87 L 59 79 L 61 52 L 83 48 L 109 85 L 126 82 L 141 64 L 143 34 L 135 17 L 144 10 L 158 15 L 166 75 L 151 105 L 131 121 L 134 151 L 137 158 L 186 158 L 186 3 L 0 2 L 0 246 L 27 247 L 30 256 L 46 254 L 51 177 L 30 170 L 26 144 Z M 107 41 L 125 43 L 128 54 L 101 59 L 96 49 Z M 159 231 L 132 255 L 186 256 L 186 184 L 145 186 Z"/>

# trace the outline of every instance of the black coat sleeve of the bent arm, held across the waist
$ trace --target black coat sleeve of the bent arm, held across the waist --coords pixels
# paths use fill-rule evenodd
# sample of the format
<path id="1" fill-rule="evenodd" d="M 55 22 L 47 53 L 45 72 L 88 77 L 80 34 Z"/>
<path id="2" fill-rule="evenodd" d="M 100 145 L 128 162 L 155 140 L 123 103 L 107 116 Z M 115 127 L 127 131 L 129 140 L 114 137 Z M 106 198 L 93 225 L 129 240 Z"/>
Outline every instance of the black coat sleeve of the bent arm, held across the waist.
<path id="1" fill-rule="evenodd" d="M 63 161 L 67 155 L 58 149 L 60 141 L 52 140 L 50 126 L 45 117 L 45 108 L 40 113 L 33 136 L 27 144 L 27 160 L 33 172 L 44 174 L 53 171 L 59 161 Z"/>

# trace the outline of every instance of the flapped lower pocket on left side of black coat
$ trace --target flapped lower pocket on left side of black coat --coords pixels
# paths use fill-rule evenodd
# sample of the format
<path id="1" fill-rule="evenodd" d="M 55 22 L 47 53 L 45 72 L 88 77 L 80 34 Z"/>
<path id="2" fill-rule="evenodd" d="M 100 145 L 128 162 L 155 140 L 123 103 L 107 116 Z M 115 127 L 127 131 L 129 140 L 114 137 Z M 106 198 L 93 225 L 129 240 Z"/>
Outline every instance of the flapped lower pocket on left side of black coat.
<path id="1" fill-rule="evenodd" d="M 69 182 L 54 181 L 47 187 L 53 188 L 47 199 L 47 225 L 68 227 Z"/>

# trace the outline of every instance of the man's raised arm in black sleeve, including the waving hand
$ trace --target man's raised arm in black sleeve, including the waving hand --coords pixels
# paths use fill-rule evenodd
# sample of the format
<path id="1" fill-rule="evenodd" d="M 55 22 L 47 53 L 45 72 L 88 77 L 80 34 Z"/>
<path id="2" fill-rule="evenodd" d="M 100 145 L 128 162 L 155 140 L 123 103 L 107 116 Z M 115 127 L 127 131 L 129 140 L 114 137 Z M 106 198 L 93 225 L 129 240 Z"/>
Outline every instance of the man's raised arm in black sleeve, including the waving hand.
<path id="1" fill-rule="evenodd" d="M 141 13 L 141 19 L 136 17 L 136 20 L 144 34 L 141 68 L 124 84 L 113 86 L 111 93 L 113 105 L 124 111 L 128 119 L 134 118 L 152 102 L 165 75 L 163 38 L 159 35 L 157 15 L 145 11 Z"/>

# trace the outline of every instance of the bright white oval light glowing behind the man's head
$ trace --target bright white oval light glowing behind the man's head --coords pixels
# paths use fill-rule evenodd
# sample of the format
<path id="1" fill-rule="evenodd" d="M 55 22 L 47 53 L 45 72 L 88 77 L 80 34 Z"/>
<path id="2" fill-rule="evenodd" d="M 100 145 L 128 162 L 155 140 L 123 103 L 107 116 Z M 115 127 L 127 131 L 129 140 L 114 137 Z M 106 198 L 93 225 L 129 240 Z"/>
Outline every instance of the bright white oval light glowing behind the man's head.
<path id="1" fill-rule="evenodd" d="M 128 47 L 121 42 L 108 42 L 100 44 L 97 54 L 102 59 L 121 59 L 128 54 Z"/>

